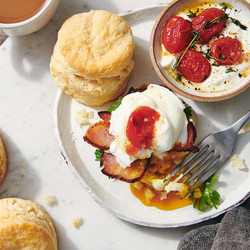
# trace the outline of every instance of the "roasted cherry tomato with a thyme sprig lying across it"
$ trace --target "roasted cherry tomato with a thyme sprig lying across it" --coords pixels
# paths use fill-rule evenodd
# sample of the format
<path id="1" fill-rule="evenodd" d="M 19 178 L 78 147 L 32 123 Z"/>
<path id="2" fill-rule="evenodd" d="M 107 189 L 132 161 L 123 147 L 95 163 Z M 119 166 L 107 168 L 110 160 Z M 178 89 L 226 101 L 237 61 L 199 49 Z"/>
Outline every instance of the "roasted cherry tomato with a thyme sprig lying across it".
<path id="1" fill-rule="evenodd" d="M 214 20 L 215 18 L 225 14 L 223 10 L 217 8 L 206 9 L 201 14 L 194 18 L 192 21 L 193 31 L 200 31 L 207 22 Z M 200 44 L 209 42 L 214 36 L 219 35 L 226 25 L 227 20 L 220 19 L 218 23 L 209 24 L 200 32 Z"/>

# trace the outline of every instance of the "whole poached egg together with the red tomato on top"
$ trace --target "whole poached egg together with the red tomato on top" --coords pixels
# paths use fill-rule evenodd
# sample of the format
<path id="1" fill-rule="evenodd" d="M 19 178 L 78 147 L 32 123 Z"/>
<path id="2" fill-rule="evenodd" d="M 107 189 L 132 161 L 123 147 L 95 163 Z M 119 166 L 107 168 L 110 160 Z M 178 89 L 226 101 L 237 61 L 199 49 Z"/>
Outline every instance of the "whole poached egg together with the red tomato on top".
<path id="1" fill-rule="evenodd" d="M 110 152 L 121 167 L 126 168 L 133 161 L 149 158 L 151 154 L 162 158 L 175 143 L 185 144 L 188 121 L 184 109 L 182 101 L 160 85 L 150 84 L 143 92 L 126 95 L 120 106 L 111 113 L 109 128 L 109 133 L 115 137 L 110 145 Z M 147 110 L 151 112 L 149 116 L 145 114 Z M 133 119 L 135 115 L 138 116 L 137 113 L 139 120 Z M 129 131 L 131 126 L 135 129 L 133 138 Z M 150 134 L 147 131 L 151 127 Z M 146 140 L 144 143 L 143 138 L 140 141 L 140 133 L 142 137 L 145 133 L 149 134 L 150 143 Z M 139 146 L 138 140 L 141 143 Z M 129 150 L 131 147 L 135 150 Z"/>

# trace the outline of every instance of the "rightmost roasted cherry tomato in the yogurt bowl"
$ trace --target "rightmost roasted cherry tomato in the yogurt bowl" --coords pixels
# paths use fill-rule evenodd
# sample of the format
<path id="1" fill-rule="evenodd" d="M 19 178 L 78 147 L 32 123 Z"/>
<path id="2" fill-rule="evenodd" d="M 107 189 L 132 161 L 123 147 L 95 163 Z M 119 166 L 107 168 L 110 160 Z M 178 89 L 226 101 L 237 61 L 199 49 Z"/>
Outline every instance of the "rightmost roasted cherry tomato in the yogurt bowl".
<path id="1" fill-rule="evenodd" d="M 233 65 L 242 56 L 241 43 L 236 38 L 223 37 L 212 43 L 211 53 L 219 64 Z"/>

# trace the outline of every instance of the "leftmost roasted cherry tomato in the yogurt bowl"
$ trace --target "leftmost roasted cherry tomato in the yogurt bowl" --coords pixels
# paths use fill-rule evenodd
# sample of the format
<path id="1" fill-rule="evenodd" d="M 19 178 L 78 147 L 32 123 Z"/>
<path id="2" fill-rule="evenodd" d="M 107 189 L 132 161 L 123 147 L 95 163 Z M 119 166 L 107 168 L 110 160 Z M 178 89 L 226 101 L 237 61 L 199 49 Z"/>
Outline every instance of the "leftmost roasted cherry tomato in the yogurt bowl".
<path id="1" fill-rule="evenodd" d="M 162 32 L 162 43 L 170 53 L 184 50 L 192 39 L 192 25 L 182 17 L 172 17 Z"/>

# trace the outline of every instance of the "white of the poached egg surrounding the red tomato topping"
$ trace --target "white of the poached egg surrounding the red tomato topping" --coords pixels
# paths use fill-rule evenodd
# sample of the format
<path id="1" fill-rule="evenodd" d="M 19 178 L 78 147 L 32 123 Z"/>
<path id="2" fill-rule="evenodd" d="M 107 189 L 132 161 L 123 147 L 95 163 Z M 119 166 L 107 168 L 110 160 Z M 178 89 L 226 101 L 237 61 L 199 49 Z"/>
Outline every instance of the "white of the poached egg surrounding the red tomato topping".
<path id="1" fill-rule="evenodd" d="M 155 122 L 154 138 L 150 149 L 142 149 L 134 156 L 126 152 L 130 144 L 126 135 L 130 115 L 139 107 L 149 107 L 160 115 Z M 110 152 L 117 162 L 128 167 L 136 159 L 149 158 L 151 154 L 162 157 L 176 142 L 187 141 L 187 118 L 183 112 L 185 105 L 170 90 L 160 85 L 150 84 L 143 92 L 131 93 L 122 99 L 121 105 L 112 112 L 109 133 L 115 136 Z"/>

